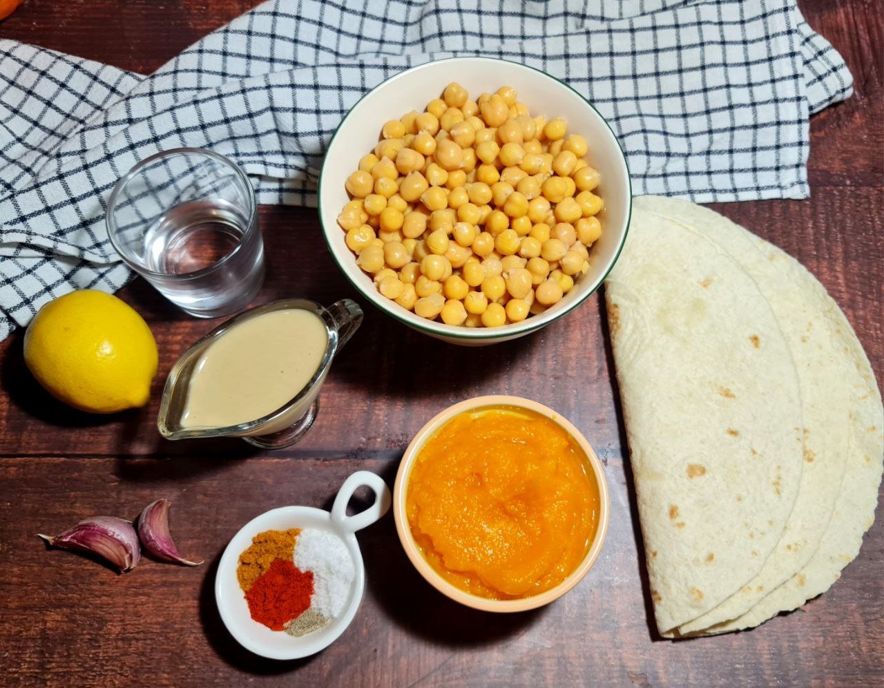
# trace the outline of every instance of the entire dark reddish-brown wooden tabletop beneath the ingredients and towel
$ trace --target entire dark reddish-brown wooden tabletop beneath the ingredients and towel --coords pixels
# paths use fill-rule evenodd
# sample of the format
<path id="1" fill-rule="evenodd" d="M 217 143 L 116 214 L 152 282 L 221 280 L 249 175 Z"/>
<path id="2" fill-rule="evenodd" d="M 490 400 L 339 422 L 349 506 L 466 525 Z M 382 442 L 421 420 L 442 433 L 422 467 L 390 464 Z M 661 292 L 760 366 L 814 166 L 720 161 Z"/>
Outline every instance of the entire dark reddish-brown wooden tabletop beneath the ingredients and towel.
<path id="1" fill-rule="evenodd" d="M 0 38 L 147 73 L 255 0 L 27 0 Z M 812 118 L 804 201 L 715 210 L 802 261 L 845 310 L 884 373 L 884 107 L 880 3 L 804 0 L 812 27 L 847 59 L 855 95 Z M 261 301 L 355 297 L 324 248 L 313 210 L 263 208 L 269 275 Z M 145 283 L 119 294 L 149 321 L 160 372 L 149 407 L 117 417 L 66 409 L 24 367 L 21 333 L 0 344 L 0 679 L 4 684 L 881 684 L 884 527 L 865 537 L 832 590 L 760 628 L 673 643 L 652 631 L 644 561 L 613 365 L 598 297 L 534 336 L 451 347 L 366 306 L 334 364 L 322 411 L 301 444 L 262 452 L 238 440 L 168 442 L 156 433 L 171 364 L 214 323 L 184 317 Z M 357 298 L 357 301 L 359 299 Z M 359 536 L 368 586 L 354 623 L 322 654 L 263 660 L 225 631 L 217 559 L 268 508 L 329 508 L 354 470 L 392 485 L 403 448 L 432 415 L 469 396 L 511 393 L 559 409 L 605 462 L 612 490 L 603 553 L 547 608 L 489 615 L 446 600 L 403 553 L 392 516 Z M 46 551 L 38 531 L 84 516 L 135 516 L 164 496 L 183 569 L 145 562 L 116 576 Z"/>

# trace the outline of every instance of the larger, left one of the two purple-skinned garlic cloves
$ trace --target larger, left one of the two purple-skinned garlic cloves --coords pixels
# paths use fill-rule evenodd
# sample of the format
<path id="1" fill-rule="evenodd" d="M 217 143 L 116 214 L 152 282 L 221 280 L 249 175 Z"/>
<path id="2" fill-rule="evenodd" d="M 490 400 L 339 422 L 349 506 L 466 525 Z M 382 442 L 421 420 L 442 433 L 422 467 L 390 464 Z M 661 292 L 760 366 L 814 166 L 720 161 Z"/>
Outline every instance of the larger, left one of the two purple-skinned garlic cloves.
<path id="1" fill-rule="evenodd" d="M 38 534 L 50 547 L 97 554 L 120 573 L 133 570 L 141 561 L 141 547 L 133 525 L 116 516 L 86 518 L 54 538 Z"/>

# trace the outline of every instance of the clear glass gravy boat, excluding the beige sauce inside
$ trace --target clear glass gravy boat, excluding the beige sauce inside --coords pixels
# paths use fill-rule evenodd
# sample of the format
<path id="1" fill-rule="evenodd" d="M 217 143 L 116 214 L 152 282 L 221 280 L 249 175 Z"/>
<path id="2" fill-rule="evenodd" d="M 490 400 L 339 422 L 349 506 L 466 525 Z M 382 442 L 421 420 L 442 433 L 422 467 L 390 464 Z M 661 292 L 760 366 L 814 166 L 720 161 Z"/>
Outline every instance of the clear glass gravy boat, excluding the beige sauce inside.
<path id="1" fill-rule="evenodd" d="M 233 326 L 248 318 L 269 313 L 274 310 L 302 309 L 310 310 L 321 317 L 328 331 L 328 344 L 325 347 L 322 362 L 313 377 L 298 394 L 282 407 L 267 416 L 257 418 L 248 423 L 229 425 L 227 427 L 186 427 L 181 424 L 187 409 L 187 394 L 190 390 L 191 377 L 196 363 L 202 353 L 219 337 Z M 209 334 L 197 341 L 181 355 L 172 366 L 163 390 L 160 402 L 159 417 L 156 426 L 167 440 L 187 440 L 209 437 L 241 437 L 255 447 L 278 449 L 293 445 L 310 429 L 316 414 L 319 412 L 319 389 L 323 386 L 325 375 L 331 367 L 331 361 L 347 340 L 349 340 L 362 323 L 362 309 L 350 299 L 342 299 L 324 308 L 307 299 L 285 299 L 266 303 L 246 310 L 236 317 L 219 325 Z"/>

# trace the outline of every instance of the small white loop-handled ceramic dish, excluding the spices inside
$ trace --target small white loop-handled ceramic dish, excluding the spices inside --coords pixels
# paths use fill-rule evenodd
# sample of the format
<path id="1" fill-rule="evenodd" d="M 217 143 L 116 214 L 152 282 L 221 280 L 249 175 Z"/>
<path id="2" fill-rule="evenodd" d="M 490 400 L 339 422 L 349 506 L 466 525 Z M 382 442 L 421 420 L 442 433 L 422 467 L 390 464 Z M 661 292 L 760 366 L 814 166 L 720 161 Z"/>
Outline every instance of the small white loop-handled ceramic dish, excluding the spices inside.
<path id="1" fill-rule="evenodd" d="M 347 516 L 347 502 L 363 485 L 374 491 L 374 503 L 355 516 Z M 215 600 L 218 611 L 233 638 L 251 652 L 272 660 L 307 657 L 337 640 L 353 621 L 362 602 L 362 593 L 365 592 L 365 567 L 362 565 L 362 553 L 354 532 L 362 530 L 384 516 L 390 508 L 390 502 L 390 490 L 384 480 L 367 470 L 360 470 L 347 478 L 341 486 L 331 507 L 331 513 L 321 508 L 281 507 L 256 516 L 244 525 L 233 536 L 222 554 L 215 578 Z M 321 528 L 336 533 L 347 545 L 356 570 L 350 599 L 344 613 L 323 629 L 308 633 L 301 638 L 293 638 L 285 631 L 271 631 L 254 621 L 248 613 L 248 602 L 236 578 L 240 554 L 252 544 L 255 535 L 262 531 L 285 531 L 289 528 Z"/>

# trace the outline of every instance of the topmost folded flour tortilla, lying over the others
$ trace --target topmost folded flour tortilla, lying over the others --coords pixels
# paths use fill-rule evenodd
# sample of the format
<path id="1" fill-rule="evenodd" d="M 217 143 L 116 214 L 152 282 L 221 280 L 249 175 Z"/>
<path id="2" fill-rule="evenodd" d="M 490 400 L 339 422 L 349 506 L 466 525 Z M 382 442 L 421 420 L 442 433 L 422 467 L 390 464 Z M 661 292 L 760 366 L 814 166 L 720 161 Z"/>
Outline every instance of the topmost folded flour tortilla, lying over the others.
<path id="1" fill-rule="evenodd" d="M 762 569 L 804 465 L 795 365 L 755 282 L 636 207 L 606 284 L 654 613 L 671 633 Z"/>

